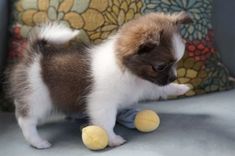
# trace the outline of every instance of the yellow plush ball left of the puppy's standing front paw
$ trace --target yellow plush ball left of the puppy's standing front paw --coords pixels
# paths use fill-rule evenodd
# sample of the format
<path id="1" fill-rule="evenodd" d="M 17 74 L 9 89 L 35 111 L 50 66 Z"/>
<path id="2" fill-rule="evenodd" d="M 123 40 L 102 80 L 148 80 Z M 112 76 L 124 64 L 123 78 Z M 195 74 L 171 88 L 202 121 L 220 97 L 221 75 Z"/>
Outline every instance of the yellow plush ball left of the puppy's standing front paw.
<path id="1" fill-rule="evenodd" d="M 91 150 L 101 150 L 108 145 L 108 135 L 98 126 L 87 126 L 82 129 L 82 141 Z"/>

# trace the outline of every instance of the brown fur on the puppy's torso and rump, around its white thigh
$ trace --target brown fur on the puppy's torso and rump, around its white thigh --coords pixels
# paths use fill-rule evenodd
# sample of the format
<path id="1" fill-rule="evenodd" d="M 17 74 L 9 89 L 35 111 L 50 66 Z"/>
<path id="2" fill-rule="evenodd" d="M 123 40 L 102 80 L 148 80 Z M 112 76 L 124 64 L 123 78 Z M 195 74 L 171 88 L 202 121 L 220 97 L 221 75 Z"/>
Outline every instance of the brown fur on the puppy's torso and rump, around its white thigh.
<path id="1" fill-rule="evenodd" d="M 32 92 L 28 80 L 28 69 L 35 57 L 41 55 L 41 74 L 53 104 L 65 112 L 84 111 L 85 98 L 89 92 L 88 53 L 80 44 L 54 46 L 37 41 L 27 47 L 24 56 L 6 71 L 8 96 L 17 101 L 16 115 L 26 117 L 29 112 L 27 96 Z"/>

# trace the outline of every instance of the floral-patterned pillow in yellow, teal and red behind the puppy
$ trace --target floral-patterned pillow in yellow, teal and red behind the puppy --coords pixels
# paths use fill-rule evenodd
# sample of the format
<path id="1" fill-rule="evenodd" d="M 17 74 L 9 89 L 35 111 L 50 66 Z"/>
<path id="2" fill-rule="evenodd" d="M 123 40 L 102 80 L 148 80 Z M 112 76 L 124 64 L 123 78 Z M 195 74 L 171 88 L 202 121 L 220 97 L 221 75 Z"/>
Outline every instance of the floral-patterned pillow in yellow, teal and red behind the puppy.
<path id="1" fill-rule="evenodd" d="M 177 81 L 191 86 L 186 96 L 234 87 L 234 78 L 220 62 L 214 46 L 212 0 L 20 0 L 15 7 L 9 51 L 13 61 L 21 57 L 32 27 L 45 21 L 59 21 L 80 29 L 84 42 L 96 44 L 141 14 L 184 10 L 194 20 L 181 28 L 187 44 L 186 54 L 178 64 Z"/>

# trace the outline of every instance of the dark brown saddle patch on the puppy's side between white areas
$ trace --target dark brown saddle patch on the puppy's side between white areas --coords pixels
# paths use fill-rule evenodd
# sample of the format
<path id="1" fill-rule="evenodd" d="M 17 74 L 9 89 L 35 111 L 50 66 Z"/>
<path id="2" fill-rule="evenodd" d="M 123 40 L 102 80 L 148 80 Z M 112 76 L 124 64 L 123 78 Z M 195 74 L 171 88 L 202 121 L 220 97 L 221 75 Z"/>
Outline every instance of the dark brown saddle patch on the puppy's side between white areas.
<path id="1" fill-rule="evenodd" d="M 85 111 L 91 85 L 88 53 L 81 45 L 69 48 L 49 45 L 43 52 L 42 77 L 53 104 L 65 112 Z"/>

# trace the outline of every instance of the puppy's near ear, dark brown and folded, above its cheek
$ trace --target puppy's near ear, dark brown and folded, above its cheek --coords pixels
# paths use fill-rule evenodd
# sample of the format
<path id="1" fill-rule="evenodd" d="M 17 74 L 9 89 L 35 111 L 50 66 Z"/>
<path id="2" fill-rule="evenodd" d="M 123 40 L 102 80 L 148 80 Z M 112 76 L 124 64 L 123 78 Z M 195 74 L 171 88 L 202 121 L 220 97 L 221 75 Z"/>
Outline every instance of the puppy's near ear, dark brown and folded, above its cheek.
<path id="1" fill-rule="evenodd" d="M 154 47 L 159 46 L 161 42 L 161 36 L 163 34 L 163 30 L 155 32 L 154 34 L 150 34 L 147 36 L 144 43 L 142 43 L 138 48 L 138 54 L 148 53 Z"/>

